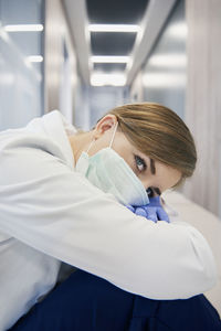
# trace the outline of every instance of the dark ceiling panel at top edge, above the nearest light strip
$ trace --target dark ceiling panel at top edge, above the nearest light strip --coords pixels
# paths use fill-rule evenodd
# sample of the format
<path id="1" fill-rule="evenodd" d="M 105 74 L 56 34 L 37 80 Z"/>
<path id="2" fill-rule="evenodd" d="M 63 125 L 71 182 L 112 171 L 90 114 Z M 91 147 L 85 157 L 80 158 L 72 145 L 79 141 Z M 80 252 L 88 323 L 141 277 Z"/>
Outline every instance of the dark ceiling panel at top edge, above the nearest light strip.
<path id="1" fill-rule="evenodd" d="M 144 17 L 148 0 L 86 0 L 88 21 L 106 24 L 137 24 Z"/>

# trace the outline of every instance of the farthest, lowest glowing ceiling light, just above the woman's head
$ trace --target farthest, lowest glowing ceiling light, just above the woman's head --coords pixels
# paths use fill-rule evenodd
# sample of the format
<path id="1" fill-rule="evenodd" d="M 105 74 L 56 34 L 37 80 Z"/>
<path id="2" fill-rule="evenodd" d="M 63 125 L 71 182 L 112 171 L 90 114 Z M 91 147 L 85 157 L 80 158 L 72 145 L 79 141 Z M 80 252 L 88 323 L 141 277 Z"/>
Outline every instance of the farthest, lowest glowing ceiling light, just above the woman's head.
<path id="1" fill-rule="evenodd" d="M 91 84 L 93 86 L 124 86 L 126 83 L 126 77 L 122 73 L 115 74 L 103 74 L 103 73 L 93 73 L 91 76 Z"/>

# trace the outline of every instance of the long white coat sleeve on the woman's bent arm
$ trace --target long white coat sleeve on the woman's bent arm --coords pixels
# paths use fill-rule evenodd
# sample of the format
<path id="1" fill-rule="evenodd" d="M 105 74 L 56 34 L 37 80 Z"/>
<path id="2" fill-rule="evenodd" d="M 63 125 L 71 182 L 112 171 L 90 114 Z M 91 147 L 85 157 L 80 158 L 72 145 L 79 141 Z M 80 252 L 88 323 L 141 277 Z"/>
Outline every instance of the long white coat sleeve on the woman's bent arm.
<path id="1" fill-rule="evenodd" d="M 185 299 L 215 284 L 211 249 L 192 226 L 133 214 L 46 151 L 14 148 L 1 157 L 6 234 L 151 299 Z"/>

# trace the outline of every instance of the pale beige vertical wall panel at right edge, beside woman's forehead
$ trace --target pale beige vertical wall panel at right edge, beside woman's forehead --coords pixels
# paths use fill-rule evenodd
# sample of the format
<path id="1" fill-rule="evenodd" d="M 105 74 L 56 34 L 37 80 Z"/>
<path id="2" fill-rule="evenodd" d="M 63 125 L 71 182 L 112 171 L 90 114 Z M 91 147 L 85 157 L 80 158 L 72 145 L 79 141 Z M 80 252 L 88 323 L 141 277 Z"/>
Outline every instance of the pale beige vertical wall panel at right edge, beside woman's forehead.
<path id="1" fill-rule="evenodd" d="M 186 193 L 221 213 L 221 1 L 187 0 L 188 84 L 186 120 L 199 153 Z M 221 216 L 221 214 L 220 214 Z"/>

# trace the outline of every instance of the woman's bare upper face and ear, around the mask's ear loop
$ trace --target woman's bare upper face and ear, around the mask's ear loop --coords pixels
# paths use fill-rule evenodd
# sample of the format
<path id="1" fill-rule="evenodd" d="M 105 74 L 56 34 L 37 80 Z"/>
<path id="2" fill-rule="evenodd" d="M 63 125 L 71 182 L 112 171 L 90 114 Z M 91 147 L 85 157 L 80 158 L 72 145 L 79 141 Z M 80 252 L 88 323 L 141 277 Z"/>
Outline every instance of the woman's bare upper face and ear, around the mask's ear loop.
<path id="1" fill-rule="evenodd" d="M 90 150 L 94 154 L 102 148 L 109 146 L 114 135 L 115 126 L 103 131 Z M 159 161 L 151 160 L 134 147 L 126 136 L 116 131 L 112 148 L 127 162 L 135 174 L 143 182 L 145 189 L 151 189 L 154 193 L 160 194 L 172 188 L 181 178 L 181 172 Z"/>

